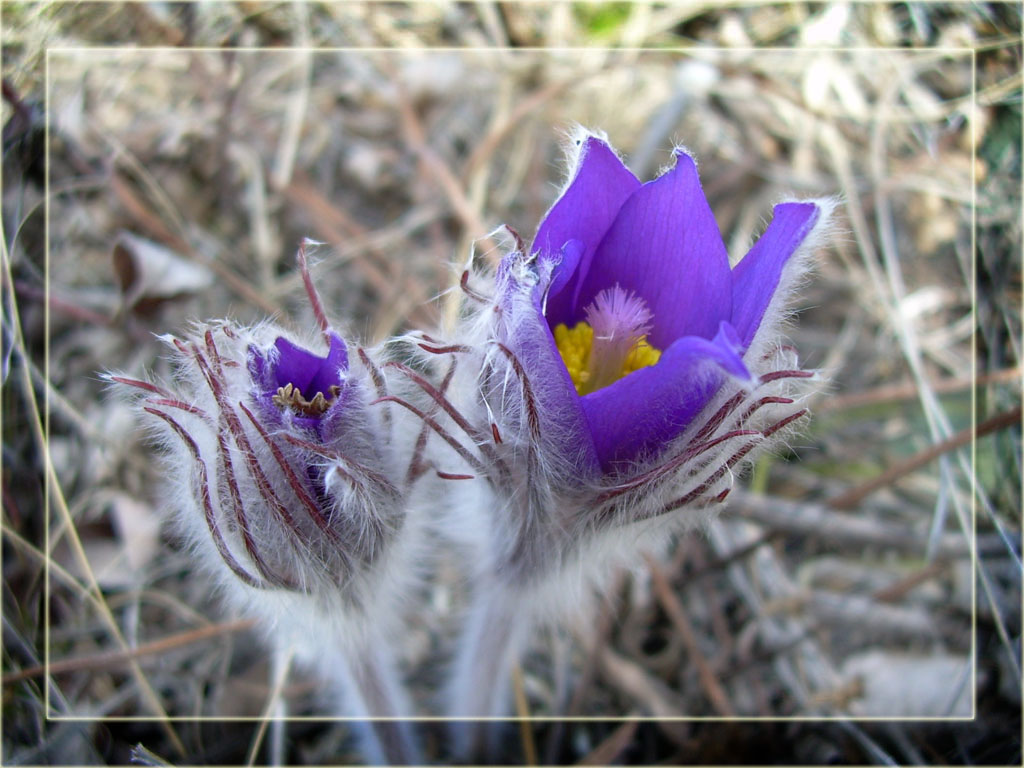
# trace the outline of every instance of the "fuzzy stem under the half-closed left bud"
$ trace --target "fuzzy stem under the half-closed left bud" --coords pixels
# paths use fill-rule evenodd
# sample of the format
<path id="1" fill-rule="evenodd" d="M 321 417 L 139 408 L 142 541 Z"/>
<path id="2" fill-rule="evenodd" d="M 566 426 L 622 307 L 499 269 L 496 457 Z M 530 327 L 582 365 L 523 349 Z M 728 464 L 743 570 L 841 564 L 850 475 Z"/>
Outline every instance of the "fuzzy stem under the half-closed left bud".
<path id="1" fill-rule="evenodd" d="M 347 658 L 338 654 L 333 671 L 343 711 L 368 765 L 419 765 L 422 758 L 413 726 L 401 718 L 412 712 L 394 665 L 380 644 L 368 643 Z"/>

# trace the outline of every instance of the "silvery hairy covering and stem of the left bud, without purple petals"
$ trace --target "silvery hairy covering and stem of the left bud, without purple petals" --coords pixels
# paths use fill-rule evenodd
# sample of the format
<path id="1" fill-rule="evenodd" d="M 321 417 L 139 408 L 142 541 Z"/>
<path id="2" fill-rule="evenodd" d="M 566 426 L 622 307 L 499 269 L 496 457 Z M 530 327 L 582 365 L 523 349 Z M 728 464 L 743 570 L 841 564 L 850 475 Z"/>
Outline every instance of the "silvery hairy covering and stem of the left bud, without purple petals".
<path id="1" fill-rule="evenodd" d="M 271 648 L 293 652 L 332 681 L 347 714 L 408 715 L 387 650 L 423 577 L 424 510 L 407 504 L 398 461 L 406 450 L 391 439 L 408 425 L 394 423 L 392 406 L 369 404 L 377 397 L 374 377 L 385 375 L 376 361 L 380 350 L 349 346 L 343 373 L 353 386 L 346 389 L 343 418 L 319 445 L 323 454 L 288 442 L 316 438 L 294 424 L 289 412 L 280 422 L 265 418 L 266 403 L 257 399 L 248 368 L 251 349 L 272 362 L 280 337 L 305 349 L 324 346 L 323 337 L 296 338 L 269 323 L 197 324 L 183 339 L 163 337 L 174 364 L 172 382 L 106 378 L 157 417 L 147 425 L 162 449 L 174 527 L 225 602 L 260 620 Z M 329 478 L 314 499 L 326 502 L 319 525 L 295 490 L 297 478 L 314 497 L 308 466 L 319 466 Z M 282 519 L 274 498 L 291 523 Z M 249 544 L 240 515 L 248 523 Z M 351 688 L 359 677 L 352 670 L 366 667 L 383 692 L 379 700 L 364 700 Z M 370 754 L 380 749 L 372 734 L 364 745 Z"/>

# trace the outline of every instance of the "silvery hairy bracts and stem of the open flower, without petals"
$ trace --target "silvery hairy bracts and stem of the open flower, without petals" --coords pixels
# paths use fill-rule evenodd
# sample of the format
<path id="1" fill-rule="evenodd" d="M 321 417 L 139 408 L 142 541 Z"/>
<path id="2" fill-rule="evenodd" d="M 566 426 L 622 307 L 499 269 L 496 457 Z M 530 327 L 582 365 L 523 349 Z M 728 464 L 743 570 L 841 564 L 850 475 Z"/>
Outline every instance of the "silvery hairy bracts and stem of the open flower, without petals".
<path id="1" fill-rule="evenodd" d="M 596 134 L 579 127 L 569 133 L 563 191 L 575 178 L 589 135 Z M 613 474 L 586 474 L 577 461 L 582 457 L 568 450 L 587 438 L 572 430 L 586 427 L 556 423 L 556 409 L 545 412 L 545 401 L 558 397 L 555 390 L 564 382 L 532 374 L 557 370 L 557 352 L 537 342 L 529 354 L 548 359 L 531 370 L 532 360 L 510 351 L 515 339 L 548 333 L 532 292 L 550 284 L 549 261 L 516 247 L 497 273 L 471 264 L 452 336 L 428 344 L 411 337 L 420 365 L 434 367 L 435 378 L 455 366 L 447 404 L 458 418 L 437 409 L 434 398 L 437 429 L 447 437 L 435 444 L 458 441 L 466 471 L 477 478 L 475 487 L 464 486 L 453 499 L 443 525 L 466 553 L 476 593 L 457 652 L 450 715 L 504 714 L 507 690 L 494 688 L 495 668 L 504 674 L 501 665 L 516 656 L 531 627 L 586 614 L 615 565 L 636 566 L 639 552 L 656 552 L 671 534 L 706 525 L 735 477 L 806 414 L 803 401 L 819 378 L 800 370 L 795 351 L 781 343 L 780 326 L 830 227 L 836 201 L 810 202 L 817 207 L 815 222 L 787 259 L 743 355 L 751 379 L 733 379 L 709 362 L 697 375 L 717 377 L 721 385 L 690 426 L 657 455 L 641 456 Z M 551 418 L 538 423 L 545 416 Z M 456 735 L 467 754 L 472 729 Z"/>

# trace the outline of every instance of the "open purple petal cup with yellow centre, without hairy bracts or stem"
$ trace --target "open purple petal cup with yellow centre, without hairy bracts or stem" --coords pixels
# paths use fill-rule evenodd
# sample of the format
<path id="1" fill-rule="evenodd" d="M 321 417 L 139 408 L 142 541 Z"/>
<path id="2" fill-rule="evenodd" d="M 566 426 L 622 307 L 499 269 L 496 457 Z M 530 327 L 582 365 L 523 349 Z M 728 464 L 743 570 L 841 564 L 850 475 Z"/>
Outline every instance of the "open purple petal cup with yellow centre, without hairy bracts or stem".
<path id="1" fill-rule="evenodd" d="M 597 476 L 662 457 L 729 377 L 753 382 L 744 354 L 821 210 L 776 206 L 730 268 L 689 155 L 677 150 L 674 168 L 640 183 L 603 140 L 577 144 L 571 181 L 528 252 L 499 270 L 499 335 L 541 422 L 571 435 L 571 463 Z"/>

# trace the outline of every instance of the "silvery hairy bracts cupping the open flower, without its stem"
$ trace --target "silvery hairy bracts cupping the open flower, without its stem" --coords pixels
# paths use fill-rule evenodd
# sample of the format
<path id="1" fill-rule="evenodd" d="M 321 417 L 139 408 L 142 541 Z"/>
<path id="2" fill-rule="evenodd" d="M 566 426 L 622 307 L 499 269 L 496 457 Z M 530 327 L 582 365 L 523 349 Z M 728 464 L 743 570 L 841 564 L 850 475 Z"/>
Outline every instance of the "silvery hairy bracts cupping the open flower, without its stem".
<path id="1" fill-rule="evenodd" d="M 486 456 L 481 453 L 481 442 L 490 441 L 489 424 L 493 423 L 501 442 L 488 444 L 487 452 L 498 457 L 505 467 L 487 465 L 485 485 L 488 489 L 476 492 L 492 496 L 489 503 L 484 505 L 490 510 L 485 518 L 486 524 L 476 519 L 475 513 L 468 513 L 469 519 L 463 520 L 461 525 L 451 526 L 460 530 L 457 536 L 462 541 L 470 538 L 467 530 L 489 531 L 488 541 L 472 544 L 477 553 L 485 553 L 475 556 L 481 572 L 509 568 L 513 561 L 519 560 L 519 572 L 515 580 L 521 581 L 523 586 L 536 582 L 542 586 L 544 594 L 572 595 L 570 600 L 556 600 L 550 611 L 543 611 L 559 614 L 566 608 L 567 602 L 575 601 L 581 595 L 580 589 L 565 587 L 579 582 L 581 574 L 587 574 L 588 567 L 583 562 L 596 563 L 593 568 L 596 573 L 591 575 L 600 578 L 608 571 L 610 561 L 631 562 L 638 548 L 665 539 L 667 529 L 698 527 L 711 518 L 717 498 L 731 487 L 744 466 L 779 439 L 785 430 L 760 436 L 729 437 L 728 433 L 740 429 L 770 429 L 801 410 L 808 385 L 816 381 L 808 377 L 761 382 L 759 378 L 773 371 L 799 368 L 793 351 L 779 346 L 779 325 L 784 319 L 791 292 L 828 226 L 831 201 L 816 203 L 819 206 L 818 220 L 805 243 L 791 257 L 754 342 L 744 354 L 752 380 L 725 377 L 724 384 L 712 400 L 669 446 L 657 456 L 641 457 L 629 470 L 614 476 L 580 476 L 580 464 L 566 455 L 565 446 L 578 444 L 585 439 L 585 435 L 566 433 L 563 425 L 553 423 L 541 425 L 539 434 L 531 432 L 528 402 L 521 381 L 524 372 L 517 371 L 496 344 L 496 340 L 520 333 L 523 324 L 535 322 L 537 313 L 528 291 L 534 289 L 531 283 L 536 280 L 542 283 L 545 280 L 544 275 L 531 272 L 537 265 L 526 257 L 511 264 L 516 273 L 510 279 L 517 281 L 522 291 L 513 295 L 507 305 L 498 307 L 492 301 L 474 306 L 467 302 L 459 331 L 444 344 L 465 350 L 453 355 L 458 359 L 458 368 L 452 397 L 460 413 L 475 426 L 475 434 L 469 438 L 451 421 L 445 421 L 444 425 L 453 435 L 459 435 L 465 441 L 468 451 L 479 454 L 482 464 L 487 464 Z M 480 281 L 485 282 L 486 279 Z M 503 290 L 494 285 L 489 288 L 492 296 Z M 479 286 L 474 286 L 473 290 L 477 294 L 485 291 Z M 534 331 L 544 333 L 546 329 L 538 324 Z M 437 364 L 435 356 L 423 354 L 422 357 L 424 366 Z M 552 370 L 550 366 L 544 368 Z M 711 362 L 698 375 L 722 377 Z M 530 378 L 528 372 L 525 376 L 538 409 L 542 409 L 544 400 L 551 395 L 547 388 L 561 386 L 557 381 Z M 793 402 L 764 403 L 754 414 L 742 418 L 748 409 L 764 397 L 785 397 Z M 710 425 L 716 415 L 733 400 L 720 423 Z M 721 441 L 689 460 L 678 460 L 687 451 L 692 451 L 694 444 L 716 440 Z M 752 442 L 754 444 L 744 451 L 743 456 L 730 464 L 730 459 Z M 659 468 L 674 461 L 677 464 L 671 471 L 659 472 Z M 727 471 L 721 472 L 726 467 Z M 635 487 L 631 485 L 636 478 L 645 475 L 651 475 L 649 482 L 638 483 Z M 685 510 L 669 514 L 673 501 L 688 496 L 691 498 L 683 505 Z M 452 506 L 454 509 L 467 508 L 462 504 Z M 473 506 L 479 506 L 479 503 Z M 539 561 L 523 560 L 524 553 L 529 549 L 523 537 L 529 536 L 534 526 L 545 530 L 543 536 L 536 537 L 543 542 L 543 554 L 535 553 Z M 592 547 L 602 551 L 601 558 L 591 556 Z M 616 550 L 622 550 L 617 557 Z M 550 579 L 556 574 L 566 577 L 567 581 L 559 589 L 552 589 Z M 539 594 L 536 598 L 538 604 L 546 602 L 544 595 Z"/>

